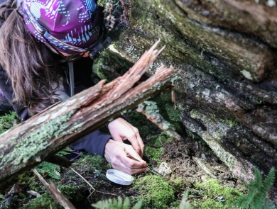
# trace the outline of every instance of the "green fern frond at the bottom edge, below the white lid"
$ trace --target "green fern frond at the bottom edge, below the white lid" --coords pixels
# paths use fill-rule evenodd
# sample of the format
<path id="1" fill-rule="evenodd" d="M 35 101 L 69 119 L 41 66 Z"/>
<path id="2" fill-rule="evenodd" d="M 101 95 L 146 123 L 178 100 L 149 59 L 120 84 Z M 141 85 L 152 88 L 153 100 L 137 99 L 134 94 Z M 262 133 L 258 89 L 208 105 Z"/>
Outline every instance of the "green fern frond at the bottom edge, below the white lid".
<path id="1" fill-rule="evenodd" d="M 141 205 L 142 205 L 142 201 L 140 200 L 131 209 L 141 209 Z M 131 207 L 129 198 L 126 197 L 123 201 L 120 196 L 118 197 L 117 200 L 116 198 L 114 198 L 113 200 L 112 199 L 101 200 L 93 204 L 92 206 L 98 209 L 108 209 L 108 208 L 109 209 L 130 209 Z"/>

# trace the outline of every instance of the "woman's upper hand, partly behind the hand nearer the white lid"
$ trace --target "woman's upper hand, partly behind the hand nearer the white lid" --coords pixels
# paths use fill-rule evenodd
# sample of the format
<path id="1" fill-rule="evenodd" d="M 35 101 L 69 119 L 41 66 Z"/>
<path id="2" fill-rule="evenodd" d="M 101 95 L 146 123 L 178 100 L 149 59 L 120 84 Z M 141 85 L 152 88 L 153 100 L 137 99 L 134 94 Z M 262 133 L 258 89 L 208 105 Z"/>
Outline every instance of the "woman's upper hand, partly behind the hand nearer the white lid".
<path id="1" fill-rule="evenodd" d="M 117 118 L 108 125 L 109 132 L 115 141 L 129 140 L 139 156 L 143 156 L 144 144 L 139 135 L 139 130 L 123 118 Z"/>

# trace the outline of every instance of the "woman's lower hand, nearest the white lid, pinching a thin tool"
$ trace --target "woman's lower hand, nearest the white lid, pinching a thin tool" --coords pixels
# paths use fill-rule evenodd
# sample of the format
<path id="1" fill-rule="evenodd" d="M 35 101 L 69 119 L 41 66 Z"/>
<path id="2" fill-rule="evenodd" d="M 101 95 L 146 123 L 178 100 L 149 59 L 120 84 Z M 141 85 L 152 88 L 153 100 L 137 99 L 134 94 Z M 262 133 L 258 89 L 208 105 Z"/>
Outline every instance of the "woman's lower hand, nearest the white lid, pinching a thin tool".
<path id="1" fill-rule="evenodd" d="M 140 162 L 127 157 L 127 154 L 130 154 Z M 133 147 L 122 142 L 109 140 L 104 150 L 104 157 L 107 159 L 107 162 L 112 164 L 114 169 L 124 171 L 127 174 L 132 175 L 148 171 L 146 162 L 141 159 Z"/>

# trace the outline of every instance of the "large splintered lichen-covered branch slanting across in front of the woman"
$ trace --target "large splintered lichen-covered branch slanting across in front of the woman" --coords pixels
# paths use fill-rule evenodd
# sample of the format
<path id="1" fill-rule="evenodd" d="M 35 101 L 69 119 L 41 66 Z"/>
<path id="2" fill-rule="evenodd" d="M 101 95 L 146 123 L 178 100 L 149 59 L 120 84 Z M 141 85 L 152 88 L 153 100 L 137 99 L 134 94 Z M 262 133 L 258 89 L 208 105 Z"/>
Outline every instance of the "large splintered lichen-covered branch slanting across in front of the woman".
<path id="1" fill-rule="evenodd" d="M 170 87 L 175 69 L 162 66 L 153 77 L 132 88 L 161 52 L 155 50 L 156 45 L 123 77 L 106 85 L 100 81 L 0 135 L 0 183 L 33 168 L 110 119 Z"/>

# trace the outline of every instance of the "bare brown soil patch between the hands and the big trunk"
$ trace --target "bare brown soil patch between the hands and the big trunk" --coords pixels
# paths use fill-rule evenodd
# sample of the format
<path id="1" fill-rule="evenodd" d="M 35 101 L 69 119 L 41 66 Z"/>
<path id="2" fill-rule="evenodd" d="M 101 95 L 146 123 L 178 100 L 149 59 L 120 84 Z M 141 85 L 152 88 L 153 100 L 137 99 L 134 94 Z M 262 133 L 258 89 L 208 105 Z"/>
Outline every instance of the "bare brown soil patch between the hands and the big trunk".
<path id="1" fill-rule="evenodd" d="M 166 162 L 173 171 L 171 175 L 181 177 L 187 187 L 191 187 L 196 180 L 216 177 L 224 186 L 241 188 L 241 181 L 232 176 L 227 166 L 210 149 L 200 149 L 198 142 L 188 137 L 165 145 L 161 161 Z"/>

